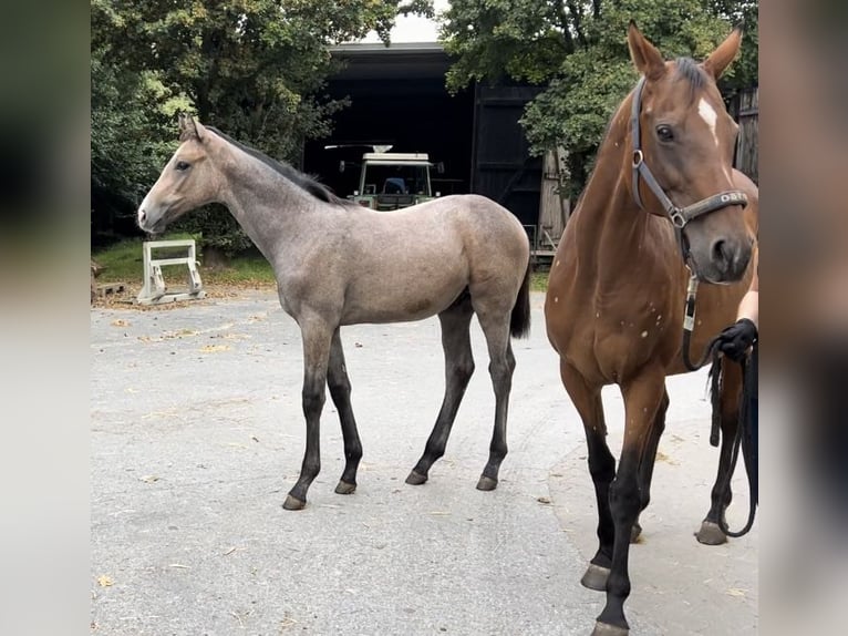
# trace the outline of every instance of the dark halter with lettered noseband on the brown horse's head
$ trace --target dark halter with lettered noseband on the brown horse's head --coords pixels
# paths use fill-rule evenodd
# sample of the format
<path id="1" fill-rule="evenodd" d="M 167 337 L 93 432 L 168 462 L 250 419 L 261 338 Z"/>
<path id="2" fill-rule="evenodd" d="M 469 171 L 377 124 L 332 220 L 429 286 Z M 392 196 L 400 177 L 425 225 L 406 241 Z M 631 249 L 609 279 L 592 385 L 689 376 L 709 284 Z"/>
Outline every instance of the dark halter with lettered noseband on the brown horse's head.
<path id="1" fill-rule="evenodd" d="M 633 94 L 633 106 L 630 112 L 631 133 L 633 137 L 633 199 L 640 208 L 644 209 L 642 197 L 639 196 L 639 177 L 641 176 L 645 184 L 648 184 L 648 187 L 651 188 L 654 196 L 660 201 L 663 209 L 665 209 L 665 215 L 669 217 L 672 225 L 674 225 L 678 233 L 678 240 L 681 243 L 682 248 L 680 234 L 690 220 L 710 212 L 727 207 L 728 205 L 741 205 L 744 207 L 748 204 L 748 197 L 741 189 L 728 189 L 714 194 L 707 198 L 703 198 L 686 207 L 678 207 L 671 202 L 662 189 L 662 186 L 660 186 L 654 178 L 648 164 L 644 163 L 641 131 L 639 126 L 639 113 L 642 110 L 642 89 L 644 89 L 644 82 L 645 79 L 644 75 L 642 75 L 637 84 L 635 93 Z"/>

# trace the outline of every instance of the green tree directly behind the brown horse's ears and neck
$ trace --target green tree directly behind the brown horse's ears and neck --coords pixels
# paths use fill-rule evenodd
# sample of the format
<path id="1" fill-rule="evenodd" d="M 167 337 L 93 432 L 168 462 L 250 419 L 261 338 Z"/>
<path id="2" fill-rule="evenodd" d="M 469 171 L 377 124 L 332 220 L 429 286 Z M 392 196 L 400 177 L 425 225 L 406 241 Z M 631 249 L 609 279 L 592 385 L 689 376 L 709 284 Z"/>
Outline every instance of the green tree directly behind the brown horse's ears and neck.
<path id="1" fill-rule="evenodd" d="M 753 10 L 752 10 L 753 8 Z M 567 156 L 562 193 L 582 189 L 607 123 L 633 86 L 637 73 L 627 47 L 634 19 L 668 57 L 705 57 L 741 18 L 756 21 L 746 0 L 453 0 L 441 16 L 441 38 L 456 58 L 447 88 L 504 79 L 545 85 L 527 104 L 521 124 L 531 152 L 561 146 Z M 747 44 L 747 60 L 756 60 Z M 754 66 L 755 81 L 756 66 Z M 738 90 L 752 81 L 738 66 L 725 82 Z M 733 84 L 733 82 L 736 82 Z"/>

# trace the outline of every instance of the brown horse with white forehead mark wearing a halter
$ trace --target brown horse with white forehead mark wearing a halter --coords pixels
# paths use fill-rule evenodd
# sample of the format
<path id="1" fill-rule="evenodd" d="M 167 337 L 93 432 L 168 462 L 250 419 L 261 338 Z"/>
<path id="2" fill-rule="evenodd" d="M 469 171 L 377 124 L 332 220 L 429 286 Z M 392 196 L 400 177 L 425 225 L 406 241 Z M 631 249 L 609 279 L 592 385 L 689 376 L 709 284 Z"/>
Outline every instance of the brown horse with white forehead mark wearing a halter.
<path id="1" fill-rule="evenodd" d="M 548 339 L 583 422 L 598 505 L 599 547 L 581 581 L 607 593 L 594 636 L 629 633 L 628 553 L 665 427 L 665 377 L 694 370 L 690 351 L 704 351 L 735 321 L 755 268 L 757 188 L 732 166 L 738 127 L 716 88 L 740 43 L 734 30 L 701 63 L 665 61 L 631 21 L 628 44 L 641 79 L 610 121 L 549 275 Z M 717 522 L 731 502 L 722 475 L 742 380 L 737 365 L 722 363 L 724 439 L 697 533 L 703 543 L 726 541 Z M 601 388 L 612 383 L 625 413 L 618 470 L 601 401 Z"/>

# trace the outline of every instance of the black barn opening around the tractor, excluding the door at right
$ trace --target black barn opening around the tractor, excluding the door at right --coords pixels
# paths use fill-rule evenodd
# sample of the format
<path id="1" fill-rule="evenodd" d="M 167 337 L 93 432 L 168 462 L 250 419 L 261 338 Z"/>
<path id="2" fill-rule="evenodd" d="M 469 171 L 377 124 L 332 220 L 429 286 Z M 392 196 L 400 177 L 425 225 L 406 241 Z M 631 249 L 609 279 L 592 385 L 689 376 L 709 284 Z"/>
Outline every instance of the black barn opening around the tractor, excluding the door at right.
<path id="1" fill-rule="evenodd" d="M 332 98 L 349 96 L 332 134 L 308 142 L 303 170 L 347 196 L 359 184 L 359 166 L 372 145 L 390 152 L 427 153 L 444 170 L 433 171 L 434 192 L 470 192 L 474 93 L 445 90 L 449 62 L 437 44 L 353 44 L 333 52 L 348 68 L 328 86 Z M 344 172 L 339 171 L 344 161 Z"/>

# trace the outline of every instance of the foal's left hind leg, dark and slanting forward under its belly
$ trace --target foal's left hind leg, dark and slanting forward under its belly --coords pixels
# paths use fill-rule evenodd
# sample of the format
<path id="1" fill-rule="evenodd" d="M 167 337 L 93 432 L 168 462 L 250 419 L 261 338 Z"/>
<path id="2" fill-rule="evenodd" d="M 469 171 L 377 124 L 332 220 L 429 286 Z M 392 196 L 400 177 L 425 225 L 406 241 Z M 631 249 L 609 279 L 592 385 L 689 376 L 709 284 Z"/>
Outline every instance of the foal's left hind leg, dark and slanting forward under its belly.
<path id="1" fill-rule="evenodd" d="M 456 419 L 465 389 L 474 373 L 470 321 L 474 315 L 470 298 L 462 297 L 438 315 L 442 324 L 442 348 L 445 351 L 445 397 L 436 423 L 424 447 L 424 454 L 406 478 L 406 483 L 418 485 L 427 481 L 430 468 L 445 454 L 447 438 Z"/>

